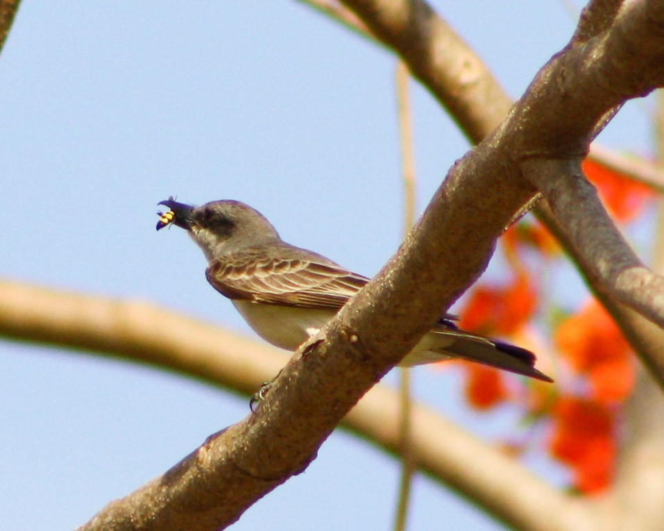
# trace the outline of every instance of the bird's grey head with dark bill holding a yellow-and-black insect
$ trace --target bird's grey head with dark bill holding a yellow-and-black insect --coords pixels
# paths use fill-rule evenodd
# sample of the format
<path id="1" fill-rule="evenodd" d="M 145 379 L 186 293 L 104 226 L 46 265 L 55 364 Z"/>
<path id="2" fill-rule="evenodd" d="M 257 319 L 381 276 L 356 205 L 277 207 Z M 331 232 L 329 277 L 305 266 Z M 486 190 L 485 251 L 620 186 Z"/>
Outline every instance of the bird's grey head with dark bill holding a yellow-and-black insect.
<path id="1" fill-rule="evenodd" d="M 159 204 L 169 210 L 158 212 L 157 230 L 171 224 L 184 228 L 203 249 L 208 261 L 229 251 L 279 239 L 263 214 L 240 201 L 210 201 L 196 207 L 170 197 Z"/>

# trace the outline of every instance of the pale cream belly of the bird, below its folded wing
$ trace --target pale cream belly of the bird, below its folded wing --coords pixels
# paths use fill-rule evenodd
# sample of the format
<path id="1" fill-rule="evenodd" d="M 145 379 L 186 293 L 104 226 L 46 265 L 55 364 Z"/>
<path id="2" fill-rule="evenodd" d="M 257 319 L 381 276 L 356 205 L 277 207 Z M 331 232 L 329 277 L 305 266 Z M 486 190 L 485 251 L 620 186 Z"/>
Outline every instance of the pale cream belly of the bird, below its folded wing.
<path id="1" fill-rule="evenodd" d="M 334 317 L 334 310 L 232 301 L 248 325 L 266 342 L 295 351 Z"/>

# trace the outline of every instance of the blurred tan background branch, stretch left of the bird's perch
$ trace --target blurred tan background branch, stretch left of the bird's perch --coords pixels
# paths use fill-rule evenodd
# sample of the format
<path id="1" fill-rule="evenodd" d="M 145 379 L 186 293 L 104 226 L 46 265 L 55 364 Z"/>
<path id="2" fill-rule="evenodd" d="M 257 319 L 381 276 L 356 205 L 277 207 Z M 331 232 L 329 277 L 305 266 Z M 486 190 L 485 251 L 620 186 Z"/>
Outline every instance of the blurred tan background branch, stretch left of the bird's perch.
<path id="1" fill-rule="evenodd" d="M 244 394 L 253 393 L 287 360 L 269 346 L 147 303 L 8 280 L 0 280 L 0 335 L 84 353 L 109 353 L 214 385 L 222 382 Z"/>

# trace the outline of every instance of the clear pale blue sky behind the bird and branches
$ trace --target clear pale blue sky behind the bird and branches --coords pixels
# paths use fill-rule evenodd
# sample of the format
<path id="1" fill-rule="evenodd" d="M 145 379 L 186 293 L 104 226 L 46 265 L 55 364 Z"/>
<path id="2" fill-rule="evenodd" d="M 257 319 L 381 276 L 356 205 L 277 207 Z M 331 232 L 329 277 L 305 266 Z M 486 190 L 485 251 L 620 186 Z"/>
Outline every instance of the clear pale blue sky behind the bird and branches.
<path id="1" fill-rule="evenodd" d="M 434 6 L 514 97 L 574 31 L 561 1 Z M 0 276 L 251 333 L 185 233 L 155 233 L 156 203 L 171 194 L 245 201 L 287 241 L 372 275 L 401 237 L 394 70 L 389 53 L 296 1 L 24 0 L 0 56 Z M 411 87 L 421 211 L 469 146 Z M 649 152 L 645 109 L 627 106 L 602 142 Z M 414 380 L 418 398 L 480 435 L 518 418 L 468 412 L 454 370 Z M 0 528 L 74 528 L 247 413 L 247 398 L 172 374 L 0 342 Z M 565 484 L 563 469 L 527 462 Z M 337 432 L 235 529 L 387 530 L 398 474 Z M 502 529 L 421 477 L 409 522 Z"/>

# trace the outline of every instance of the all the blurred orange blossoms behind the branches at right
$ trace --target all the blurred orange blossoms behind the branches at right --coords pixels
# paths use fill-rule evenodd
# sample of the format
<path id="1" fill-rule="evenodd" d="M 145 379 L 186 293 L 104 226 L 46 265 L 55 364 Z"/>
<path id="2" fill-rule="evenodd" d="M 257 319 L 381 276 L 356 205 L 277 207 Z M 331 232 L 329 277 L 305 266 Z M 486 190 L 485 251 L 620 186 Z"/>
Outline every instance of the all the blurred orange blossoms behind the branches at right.
<path id="1" fill-rule="evenodd" d="M 644 185 L 597 162 L 586 160 L 584 171 L 608 211 L 622 224 L 636 219 L 652 196 Z M 552 269 L 563 258 L 543 226 L 522 220 L 506 231 L 501 246 L 511 271 L 509 280 L 475 287 L 460 325 L 536 351 L 538 368 L 553 376 L 556 384 L 522 379 L 524 387 L 515 389 L 521 383 L 512 376 L 466 364 L 467 401 L 484 411 L 502 403 L 520 404 L 526 419 L 543 426 L 549 454 L 570 468 L 572 487 L 583 494 L 599 493 L 613 477 L 621 407 L 635 380 L 633 354 L 611 316 L 590 295 L 573 312 L 563 312 L 549 300 L 552 294 L 538 284 L 546 277 L 541 270 Z M 538 274 L 532 272 L 535 269 Z M 545 334 L 536 332 L 536 317 L 552 332 L 544 351 L 542 345 L 547 342 Z M 515 451 L 515 445 L 510 448 Z"/>

